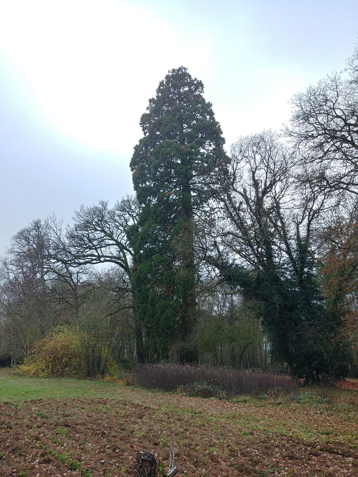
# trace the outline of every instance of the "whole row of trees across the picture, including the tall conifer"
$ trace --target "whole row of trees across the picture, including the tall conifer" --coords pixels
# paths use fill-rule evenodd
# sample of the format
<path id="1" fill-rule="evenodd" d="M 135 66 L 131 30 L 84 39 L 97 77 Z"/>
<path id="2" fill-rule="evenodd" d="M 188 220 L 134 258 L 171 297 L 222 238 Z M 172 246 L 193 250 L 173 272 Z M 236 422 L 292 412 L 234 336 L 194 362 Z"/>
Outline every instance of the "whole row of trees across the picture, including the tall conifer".
<path id="1" fill-rule="evenodd" d="M 203 83 L 171 70 L 141 117 L 134 196 L 35 219 L 0 268 L 0 352 L 71 325 L 96 359 L 312 378 L 357 362 L 358 49 L 230 154 Z M 10 359 L 10 358 L 9 358 Z M 88 361 L 88 362 L 89 362 Z"/>

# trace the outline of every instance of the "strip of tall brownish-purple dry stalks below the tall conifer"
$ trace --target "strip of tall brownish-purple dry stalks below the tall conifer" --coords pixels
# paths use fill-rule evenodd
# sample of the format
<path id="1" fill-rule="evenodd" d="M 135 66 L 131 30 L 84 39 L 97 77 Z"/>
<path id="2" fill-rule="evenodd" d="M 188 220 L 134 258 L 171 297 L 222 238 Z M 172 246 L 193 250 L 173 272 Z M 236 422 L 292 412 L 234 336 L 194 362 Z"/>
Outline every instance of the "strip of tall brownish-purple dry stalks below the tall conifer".
<path id="1" fill-rule="evenodd" d="M 188 389 L 197 383 L 206 383 L 221 390 L 226 398 L 258 396 L 269 390 L 280 394 L 298 393 L 297 381 L 287 375 L 189 365 L 140 365 L 129 383 L 164 391 L 176 391 L 181 387 Z"/>

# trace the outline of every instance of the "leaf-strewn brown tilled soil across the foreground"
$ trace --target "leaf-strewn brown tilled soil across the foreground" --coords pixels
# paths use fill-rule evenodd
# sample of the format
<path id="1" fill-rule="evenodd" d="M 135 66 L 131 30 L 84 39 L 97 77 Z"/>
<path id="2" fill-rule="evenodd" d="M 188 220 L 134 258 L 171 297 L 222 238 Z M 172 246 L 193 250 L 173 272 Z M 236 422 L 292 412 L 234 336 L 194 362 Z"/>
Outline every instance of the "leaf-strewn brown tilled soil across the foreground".
<path id="1" fill-rule="evenodd" d="M 126 477 L 142 449 L 167 468 L 173 442 L 182 477 L 358 477 L 356 413 L 345 420 L 319 406 L 119 395 L 1 404 L 0 476 Z"/>

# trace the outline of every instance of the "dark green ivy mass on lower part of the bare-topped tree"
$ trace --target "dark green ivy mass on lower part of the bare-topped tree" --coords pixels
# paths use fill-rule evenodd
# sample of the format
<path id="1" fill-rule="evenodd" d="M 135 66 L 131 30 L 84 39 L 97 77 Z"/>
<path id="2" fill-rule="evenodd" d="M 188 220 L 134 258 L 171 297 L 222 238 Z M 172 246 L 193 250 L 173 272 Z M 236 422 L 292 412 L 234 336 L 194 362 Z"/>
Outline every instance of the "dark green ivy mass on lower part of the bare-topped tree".
<path id="1" fill-rule="evenodd" d="M 249 273 L 235 264 L 220 265 L 222 277 L 242 290 L 247 299 L 262 302 L 262 323 L 269 335 L 272 355 L 287 363 L 291 373 L 313 379 L 316 374 L 345 376 L 349 353 L 312 273 L 301 282 L 281 271 Z"/>

